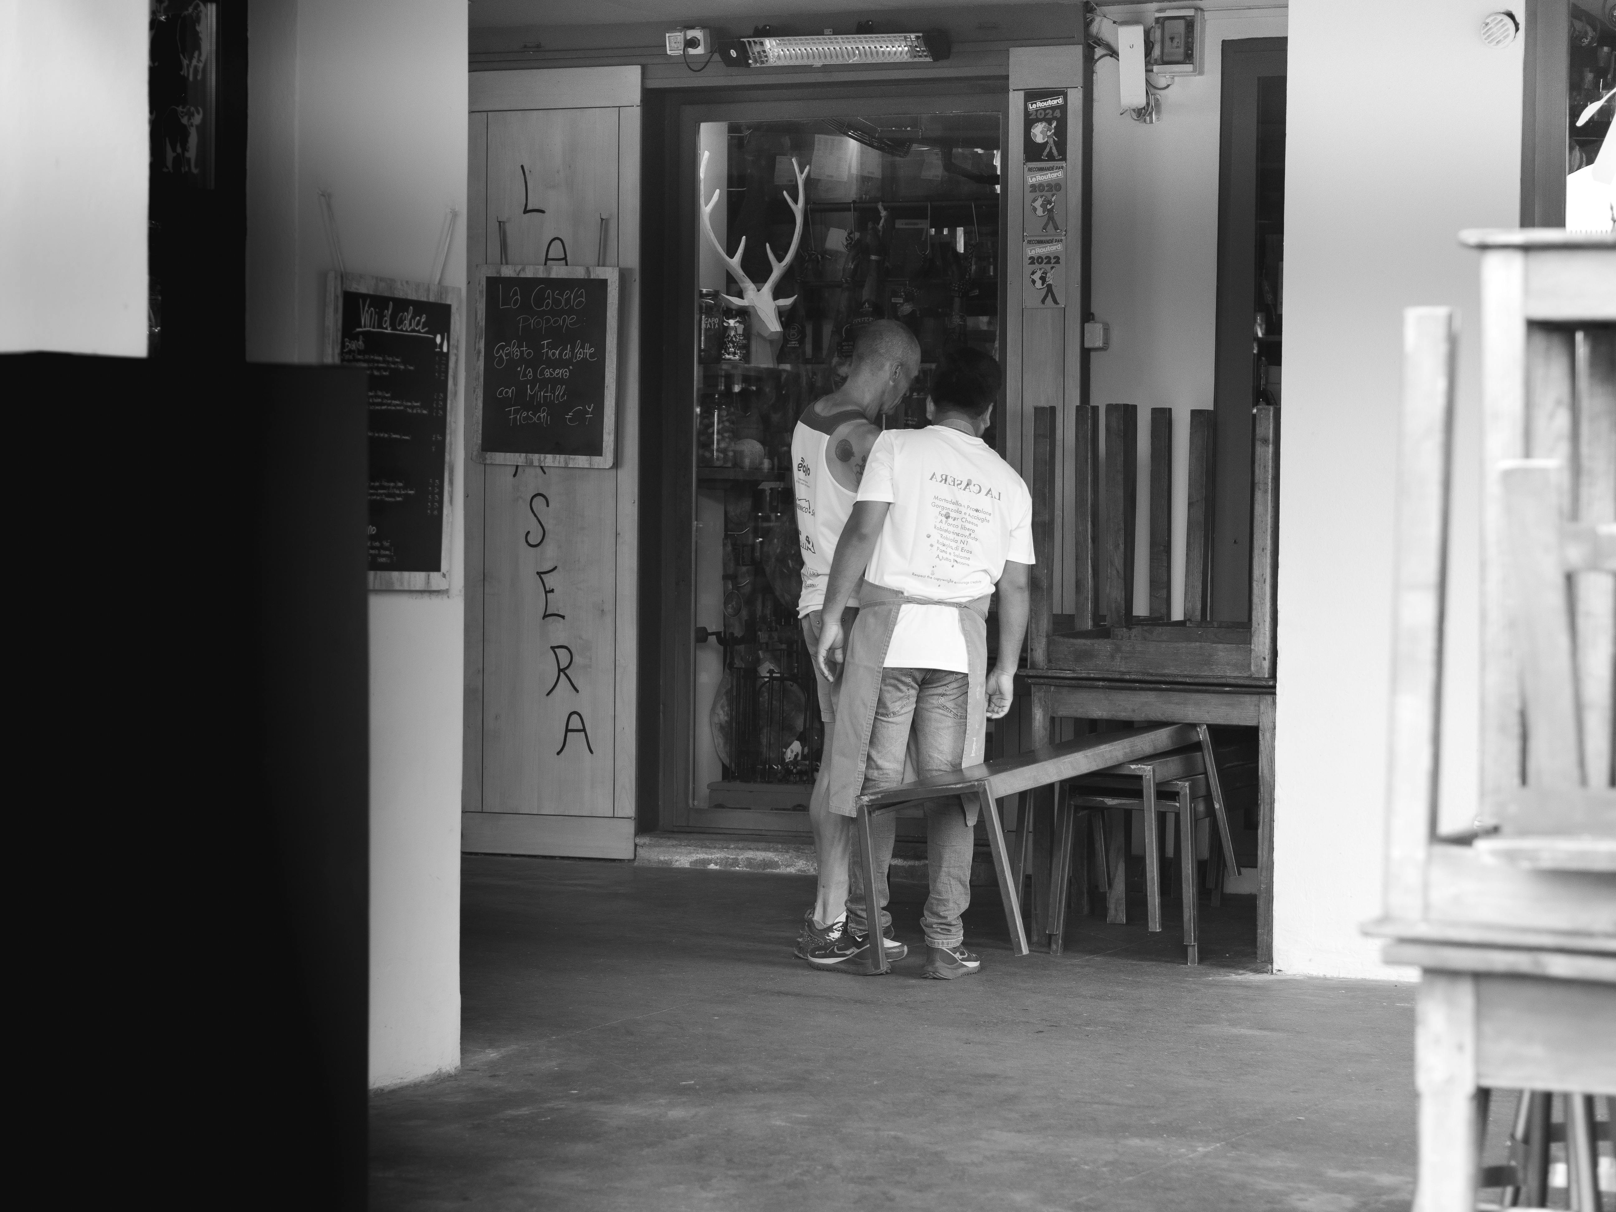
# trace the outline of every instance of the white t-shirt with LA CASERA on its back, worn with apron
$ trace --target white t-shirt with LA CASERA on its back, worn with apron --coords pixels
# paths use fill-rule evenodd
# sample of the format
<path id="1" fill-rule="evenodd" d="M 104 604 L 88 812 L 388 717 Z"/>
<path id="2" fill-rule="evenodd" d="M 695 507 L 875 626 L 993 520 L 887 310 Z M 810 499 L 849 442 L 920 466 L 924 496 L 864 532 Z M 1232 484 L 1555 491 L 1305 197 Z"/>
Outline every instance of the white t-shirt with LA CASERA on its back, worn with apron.
<path id="1" fill-rule="evenodd" d="M 992 593 L 1005 561 L 1033 564 L 1033 494 L 981 438 L 932 425 L 876 438 L 860 501 L 889 501 L 865 579 L 937 601 Z M 960 612 L 898 609 L 886 666 L 970 672 Z"/>

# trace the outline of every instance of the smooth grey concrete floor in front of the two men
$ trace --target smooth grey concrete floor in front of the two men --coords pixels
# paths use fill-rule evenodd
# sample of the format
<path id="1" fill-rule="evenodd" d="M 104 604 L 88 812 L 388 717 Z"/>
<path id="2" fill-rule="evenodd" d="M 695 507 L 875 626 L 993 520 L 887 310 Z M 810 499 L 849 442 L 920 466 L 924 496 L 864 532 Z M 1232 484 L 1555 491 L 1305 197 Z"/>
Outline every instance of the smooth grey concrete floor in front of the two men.
<path id="1" fill-rule="evenodd" d="M 915 889 L 884 978 L 792 958 L 806 876 L 475 856 L 464 889 L 464 1068 L 373 1097 L 378 1212 L 1409 1206 L 1414 989 L 1254 971 L 1246 898 L 1191 970 L 1172 918 L 1018 960 L 983 897 L 944 983 Z"/>

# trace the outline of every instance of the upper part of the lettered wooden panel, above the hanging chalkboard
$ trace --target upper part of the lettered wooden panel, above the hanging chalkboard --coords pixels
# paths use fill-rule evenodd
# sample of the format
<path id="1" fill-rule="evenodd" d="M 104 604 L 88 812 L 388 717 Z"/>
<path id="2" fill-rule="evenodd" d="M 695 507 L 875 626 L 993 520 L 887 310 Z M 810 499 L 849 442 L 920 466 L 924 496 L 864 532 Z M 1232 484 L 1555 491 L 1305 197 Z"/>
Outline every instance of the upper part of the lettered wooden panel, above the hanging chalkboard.
<path id="1" fill-rule="evenodd" d="M 617 121 L 616 108 L 488 115 L 493 255 L 504 220 L 507 265 L 543 265 L 554 236 L 566 242 L 569 265 L 600 265 L 604 215 L 604 263 L 617 263 Z"/>

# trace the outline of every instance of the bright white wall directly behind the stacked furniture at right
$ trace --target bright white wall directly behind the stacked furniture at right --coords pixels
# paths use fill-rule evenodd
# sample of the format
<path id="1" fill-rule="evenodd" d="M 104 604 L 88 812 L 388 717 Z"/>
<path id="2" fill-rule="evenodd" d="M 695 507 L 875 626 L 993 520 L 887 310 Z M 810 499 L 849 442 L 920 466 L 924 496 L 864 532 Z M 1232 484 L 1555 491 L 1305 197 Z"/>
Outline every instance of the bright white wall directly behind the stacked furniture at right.
<path id="1" fill-rule="evenodd" d="M 1401 312 L 1459 309 L 1443 818 L 1474 816 L 1477 254 L 1516 226 L 1522 47 L 1488 0 L 1293 0 L 1280 473 L 1275 966 L 1387 976 L 1380 915 Z"/>

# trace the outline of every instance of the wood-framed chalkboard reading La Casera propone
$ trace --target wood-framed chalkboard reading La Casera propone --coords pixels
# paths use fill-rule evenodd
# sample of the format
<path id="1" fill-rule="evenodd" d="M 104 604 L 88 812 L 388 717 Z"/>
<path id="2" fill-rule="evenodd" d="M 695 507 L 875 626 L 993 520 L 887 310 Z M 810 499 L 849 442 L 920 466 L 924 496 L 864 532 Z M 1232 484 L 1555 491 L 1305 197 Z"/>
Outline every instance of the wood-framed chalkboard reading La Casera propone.
<path id="1" fill-rule="evenodd" d="M 480 462 L 611 467 L 614 268 L 482 265 L 472 286 L 472 452 Z"/>

